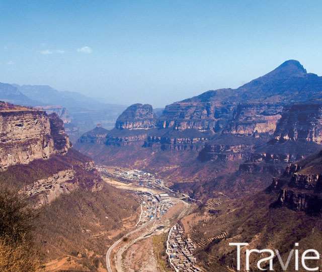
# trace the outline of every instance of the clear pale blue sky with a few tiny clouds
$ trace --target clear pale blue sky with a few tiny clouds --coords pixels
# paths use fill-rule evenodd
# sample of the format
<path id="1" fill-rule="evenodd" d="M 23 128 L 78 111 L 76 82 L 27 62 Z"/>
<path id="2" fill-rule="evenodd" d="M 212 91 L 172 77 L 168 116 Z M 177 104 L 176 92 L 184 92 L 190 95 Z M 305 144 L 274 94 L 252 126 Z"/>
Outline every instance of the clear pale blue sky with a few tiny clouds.
<path id="1" fill-rule="evenodd" d="M 162 108 L 288 59 L 322 75 L 322 1 L 0 0 L 0 82 Z"/>

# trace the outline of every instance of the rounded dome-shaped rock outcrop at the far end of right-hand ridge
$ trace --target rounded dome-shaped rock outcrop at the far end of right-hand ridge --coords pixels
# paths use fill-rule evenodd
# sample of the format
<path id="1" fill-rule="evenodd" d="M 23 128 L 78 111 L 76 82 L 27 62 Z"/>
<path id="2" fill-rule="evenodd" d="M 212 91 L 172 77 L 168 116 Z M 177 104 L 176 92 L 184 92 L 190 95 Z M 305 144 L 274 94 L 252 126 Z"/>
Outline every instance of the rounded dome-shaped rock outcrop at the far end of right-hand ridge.
<path id="1" fill-rule="evenodd" d="M 116 120 L 116 129 L 150 129 L 154 128 L 156 115 L 151 105 L 134 104 L 128 107 Z"/>

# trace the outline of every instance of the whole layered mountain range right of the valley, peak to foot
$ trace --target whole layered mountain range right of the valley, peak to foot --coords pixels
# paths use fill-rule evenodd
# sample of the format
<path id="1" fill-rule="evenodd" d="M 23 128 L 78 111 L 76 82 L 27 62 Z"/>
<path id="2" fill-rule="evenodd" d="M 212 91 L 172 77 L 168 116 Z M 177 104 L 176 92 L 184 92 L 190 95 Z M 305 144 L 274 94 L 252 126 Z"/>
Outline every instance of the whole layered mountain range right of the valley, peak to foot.
<path id="1" fill-rule="evenodd" d="M 166 106 L 134 104 L 75 147 L 107 165 L 145 169 L 203 204 L 182 219 L 206 271 L 235 271 L 236 247 L 278 249 L 286 260 L 322 237 L 322 77 L 296 60 L 237 89 L 209 90 Z M 258 256 L 251 255 L 256 271 Z M 245 260 L 242 270 L 245 270 Z M 283 271 L 275 255 L 274 270 Z M 285 263 L 285 262 L 284 262 Z M 309 267 L 319 261 L 310 260 Z M 269 269 L 269 262 L 263 262 Z M 288 270 L 296 267 L 294 257 Z"/>

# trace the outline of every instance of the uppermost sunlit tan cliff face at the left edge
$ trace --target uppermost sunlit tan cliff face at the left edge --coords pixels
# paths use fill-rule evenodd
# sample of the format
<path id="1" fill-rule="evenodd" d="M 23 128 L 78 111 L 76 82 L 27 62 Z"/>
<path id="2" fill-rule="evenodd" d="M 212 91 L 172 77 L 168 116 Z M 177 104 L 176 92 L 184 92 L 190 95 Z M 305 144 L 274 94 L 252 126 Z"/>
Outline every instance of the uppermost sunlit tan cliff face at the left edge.
<path id="1" fill-rule="evenodd" d="M 43 111 L 0 104 L 0 169 L 65 153 L 70 147 L 62 121 Z"/>

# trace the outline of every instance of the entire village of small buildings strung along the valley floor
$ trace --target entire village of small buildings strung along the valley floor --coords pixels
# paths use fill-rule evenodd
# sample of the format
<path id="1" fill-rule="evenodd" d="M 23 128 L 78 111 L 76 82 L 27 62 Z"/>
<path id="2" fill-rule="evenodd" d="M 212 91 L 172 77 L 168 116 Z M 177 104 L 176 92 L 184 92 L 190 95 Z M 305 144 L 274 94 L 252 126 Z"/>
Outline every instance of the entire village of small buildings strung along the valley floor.
<path id="1" fill-rule="evenodd" d="M 106 167 L 97 165 L 96 168 L 105 175 L 116 177 L 126 183 L 135 184 L 138 187 L 150 188 L 151 190 L 127 190 L 128 193 L 137 195 L 139 204 L 141 206 L 141 214 L 136 224 L 137 227 L 151 221 L 160 219 L 168 210 L 175 205 L 171 200 L 171 190 L 164 186 L 161 179 L 156 179 L 153 174 L 141 171 L 131 170 L 121 167 Z M 155 194 L 153 189 L 161 190 L 163 192 L 170 191 L 170 193 Z M 174 267 L 176 272 L 203 272 L 203 270 L 196 265 L 196 257 L 193 252 L 197 245 L 190 239 L 184 239 L 184 230 L 181 225 L 174 225 L 167 240 L 166 252 L 169 257 L 169 262 Z"/>

